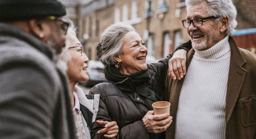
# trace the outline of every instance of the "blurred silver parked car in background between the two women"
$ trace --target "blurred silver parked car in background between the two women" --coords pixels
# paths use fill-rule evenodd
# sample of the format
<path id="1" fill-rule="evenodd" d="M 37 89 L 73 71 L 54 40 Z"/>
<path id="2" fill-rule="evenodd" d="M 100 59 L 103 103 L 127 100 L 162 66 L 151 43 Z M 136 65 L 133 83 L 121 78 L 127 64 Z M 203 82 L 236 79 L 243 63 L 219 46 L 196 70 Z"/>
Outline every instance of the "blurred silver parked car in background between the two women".
<path id="1" fill-rule="evenodd" d="M 88 62 L 88 82 L 82 82 L 83 86 L 94 86 L 98 83 L 105 82 L 106 78 L 103 73 L 104 65 L 100 61 L 89 60 Z"/>

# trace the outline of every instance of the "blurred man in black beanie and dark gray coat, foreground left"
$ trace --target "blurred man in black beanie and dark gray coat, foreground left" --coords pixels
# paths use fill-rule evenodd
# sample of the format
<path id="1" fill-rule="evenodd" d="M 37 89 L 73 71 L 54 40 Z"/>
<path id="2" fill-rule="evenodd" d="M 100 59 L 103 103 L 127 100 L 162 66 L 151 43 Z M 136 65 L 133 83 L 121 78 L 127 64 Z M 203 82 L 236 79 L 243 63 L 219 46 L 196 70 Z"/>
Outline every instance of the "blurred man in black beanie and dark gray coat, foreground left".
<path id="1" fill-rule="evenodd" d="M 69 26 L 65 14 L 56 0 L 0 1 L 1 139 L 75 138 L 58 58 Z"/>

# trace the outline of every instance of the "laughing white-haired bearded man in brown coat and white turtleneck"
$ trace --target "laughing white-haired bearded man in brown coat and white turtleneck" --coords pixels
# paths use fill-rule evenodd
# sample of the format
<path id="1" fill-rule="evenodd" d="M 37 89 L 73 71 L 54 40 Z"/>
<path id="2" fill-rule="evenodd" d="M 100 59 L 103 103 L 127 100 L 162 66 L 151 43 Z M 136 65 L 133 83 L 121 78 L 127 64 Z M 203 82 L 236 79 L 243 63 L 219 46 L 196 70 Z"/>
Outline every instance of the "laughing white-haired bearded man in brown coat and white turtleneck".
<path id="1" fill-rule="evenodd" d="M 166 80 L 173 123 L 167 139 L 255 139 L 256 55 L 231 37 L 231 0 L 186 0 L 183 26 L 191 38 L 187 73 Z"/>

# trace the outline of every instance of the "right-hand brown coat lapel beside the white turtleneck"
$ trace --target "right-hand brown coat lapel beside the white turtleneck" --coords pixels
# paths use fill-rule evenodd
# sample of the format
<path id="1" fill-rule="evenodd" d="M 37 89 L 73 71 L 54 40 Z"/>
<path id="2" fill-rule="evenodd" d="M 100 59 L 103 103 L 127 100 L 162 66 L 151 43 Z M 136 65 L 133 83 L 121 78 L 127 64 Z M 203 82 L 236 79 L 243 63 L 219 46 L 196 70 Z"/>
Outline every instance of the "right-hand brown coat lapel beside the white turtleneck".
<path id="1" fill-rule="evenodd" d="M 228 123 L 232 111 L 236 105 L 241 88 L 243 86 L 247 70 L 242 68 L 246 63 L 244 57 L 239 51 L 235 40 L 229 37 L 231 47 L 230 67 L 227 81 L 227 97 L 226 97 L 226 124 Z"/>

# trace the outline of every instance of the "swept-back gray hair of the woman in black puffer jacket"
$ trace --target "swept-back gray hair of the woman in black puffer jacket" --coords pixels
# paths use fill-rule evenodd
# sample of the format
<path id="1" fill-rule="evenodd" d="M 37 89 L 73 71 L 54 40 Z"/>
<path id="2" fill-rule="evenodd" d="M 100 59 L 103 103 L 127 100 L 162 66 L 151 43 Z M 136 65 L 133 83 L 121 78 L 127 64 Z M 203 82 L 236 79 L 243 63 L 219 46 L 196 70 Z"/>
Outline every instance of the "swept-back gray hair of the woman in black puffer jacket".
<path id="1" fill-rule="evenodd" d="M 123 52 L 124 35 L 131 31 L 136 32 L 130 24 L 119 22 L 110 25 L 101 34 L 97 44 L 97 57 L 104 66 L 117 64 L 114 57 Z"/>

